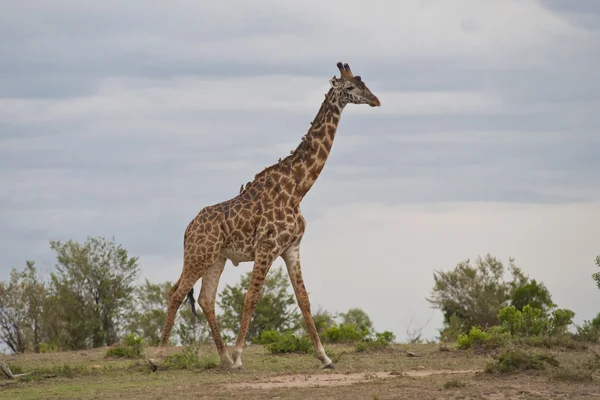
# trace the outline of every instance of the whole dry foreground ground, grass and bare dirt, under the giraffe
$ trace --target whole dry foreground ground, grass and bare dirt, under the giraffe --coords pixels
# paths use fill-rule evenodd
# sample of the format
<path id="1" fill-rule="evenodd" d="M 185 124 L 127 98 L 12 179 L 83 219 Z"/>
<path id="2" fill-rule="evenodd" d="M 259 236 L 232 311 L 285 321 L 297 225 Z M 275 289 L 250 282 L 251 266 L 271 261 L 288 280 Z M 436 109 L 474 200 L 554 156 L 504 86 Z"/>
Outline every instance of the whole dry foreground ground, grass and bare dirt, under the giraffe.
<path id="1" fill-rule="evenodd" d="M 343 346 L 332 350 L 341 357 L 335 370 L 325 371 L 310 355 L 271 355 L 262 346 L 248 346 L 240 373 L 153 373 L 143 360 L 106 359 L 103 350 L 3 356 L 11 368 L 24 373 L 61 365 L 79 372 L 18 381 L 0 378 L 0 399 L 600 399 L 598 373 L 586 382 L 556 381 L 552 371 L 488 374 L 483 369 L 490 355 L 440 351 L 438 345 L 396 345 L 376 354 Z M 407 350 L 421 357 L 408 357 Z M 586 351 L 545 352 L 561 365 L 590 357 Z M 201 353 L 214 349 L 207 346 Z"/>

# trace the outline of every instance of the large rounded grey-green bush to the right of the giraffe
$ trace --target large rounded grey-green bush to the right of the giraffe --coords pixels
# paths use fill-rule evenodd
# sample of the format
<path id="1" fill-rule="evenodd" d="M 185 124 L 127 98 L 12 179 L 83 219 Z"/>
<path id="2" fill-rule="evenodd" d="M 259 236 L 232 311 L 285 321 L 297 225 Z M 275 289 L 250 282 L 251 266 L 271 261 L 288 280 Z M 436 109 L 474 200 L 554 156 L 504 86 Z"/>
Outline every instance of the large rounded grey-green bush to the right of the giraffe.
<path id="1" fill-rule="evenodd" d="M 512 279 L 506 281 L 506 270 Z M 550 293 L 540 282 L 525 276 L 509 259 L 506 269 L 502 262 L 491 255 L 477 257 L 475 266 L 469 260 L 459 263 L 453 270 L 434 272 L 431 298 L 434 308 L 444 315 L 444 326 L 454 331 L 468 332 L 473 326 L 498 324 L 498 312 L 515 302 L 519 307 L 532 301 L 540 307 L 552 307 Z M 448 335 L 442 331 L 442 337 Z"/>

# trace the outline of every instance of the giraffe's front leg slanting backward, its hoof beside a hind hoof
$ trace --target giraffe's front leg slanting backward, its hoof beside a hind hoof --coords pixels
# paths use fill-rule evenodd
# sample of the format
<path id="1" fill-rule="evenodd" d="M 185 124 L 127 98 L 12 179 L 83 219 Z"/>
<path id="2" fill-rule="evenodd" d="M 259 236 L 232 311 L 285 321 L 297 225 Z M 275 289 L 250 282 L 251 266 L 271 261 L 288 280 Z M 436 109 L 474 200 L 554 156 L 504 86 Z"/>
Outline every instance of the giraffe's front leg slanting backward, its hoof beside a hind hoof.
<path id="1" fill-rule="evenodd" d="M 237 340 L 235 342 L 235 348 L 233 350 L 233 369 L 242 368 L 242 351 L 246 342 L 246 334 L 252 320 L 252 315 L 256 309 L 258 303 L 258 296 L 265 278 L 271 268 L 271 264 L 275 260 L 275 256 L 271 251 L 257 251 L 254 259 L 254 267 L 252 268 L 252 279 L 248 286 L 248 292 L 244 297 L 244 313 L 242 315 L 242 322 L 240 323 L 240 330 L 238 332 Z"/>

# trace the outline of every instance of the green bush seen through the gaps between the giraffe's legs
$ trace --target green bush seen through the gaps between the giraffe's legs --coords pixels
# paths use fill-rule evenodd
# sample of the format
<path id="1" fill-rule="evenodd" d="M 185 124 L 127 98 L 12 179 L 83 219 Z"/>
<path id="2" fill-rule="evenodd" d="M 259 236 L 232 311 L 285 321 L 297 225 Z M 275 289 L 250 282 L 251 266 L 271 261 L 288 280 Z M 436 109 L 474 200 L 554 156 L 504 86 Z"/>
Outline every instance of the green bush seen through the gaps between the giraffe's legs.
<path id="1" fill-rule="evenodd" d="M 223 332 L 229 331 L 235 335 L 239 331 L 244 311 L 244 296 L 251 278 L 252 271 L 243 275 L 240 283 L 235 286 L 227 285 L 221 292 L 218 304 L 222 310 L 219 321 Z M 273 268 L 259 294 L 258 304 L 248 329 L 248 340 L 260 336 L 265 330 L 285 332 L 295 331 L 300 327 L 301 317 L 294 307 L 296 300 L 289 288 L 289 279 L 284 269 Z"/>

